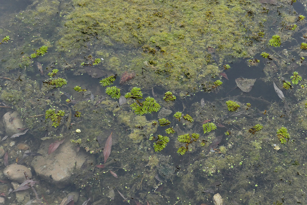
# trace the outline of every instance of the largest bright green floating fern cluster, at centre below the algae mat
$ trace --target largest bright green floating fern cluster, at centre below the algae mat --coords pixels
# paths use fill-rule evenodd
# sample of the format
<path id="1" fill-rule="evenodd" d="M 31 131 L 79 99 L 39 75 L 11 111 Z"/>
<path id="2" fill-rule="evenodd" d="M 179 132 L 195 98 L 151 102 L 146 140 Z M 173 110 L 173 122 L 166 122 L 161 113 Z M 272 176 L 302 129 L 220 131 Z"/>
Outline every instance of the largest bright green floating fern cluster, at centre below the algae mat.
<path id="1" fill-rule="evenodd" d="M 153 97 L 146 97 L 145 101 L 143 101 L 141 104 L 141 106 L 136 102 L 130 104 L 130 107 L 132 110 L 134 110 L 136 115 L 158 112 L 161 108 L 160 104 L 158 104 Z"/>

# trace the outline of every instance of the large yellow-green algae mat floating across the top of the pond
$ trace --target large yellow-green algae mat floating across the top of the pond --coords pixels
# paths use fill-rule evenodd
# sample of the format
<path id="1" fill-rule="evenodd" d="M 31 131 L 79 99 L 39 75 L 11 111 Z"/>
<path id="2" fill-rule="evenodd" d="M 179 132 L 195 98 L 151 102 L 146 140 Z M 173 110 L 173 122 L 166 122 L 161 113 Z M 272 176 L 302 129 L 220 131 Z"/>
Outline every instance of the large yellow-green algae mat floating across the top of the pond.
<path id="1" fill-rule="evenodd" d="M 65 17 L 60 51 L 76 56 L 88 45 L 93 51 L 101 45 L 110 51 L 136 49 L 120 56 L 115 71 L 141 73 L 143 67 L 147 78 L 168 89 L 193 90 L 203 77 L 218 73 L 217 67 L 206 72 L 208 64 L 249 56 L 249 36 L 261 30 L 266 18 L 263 7 L 250 1 L 76 0 L 75 6 Z M 215 53 L 208 53 L 208 46 Z M 104 62 L 111 66 L 108 58 Z M 138 76 L 136 81 L 142 83 Z"/>

